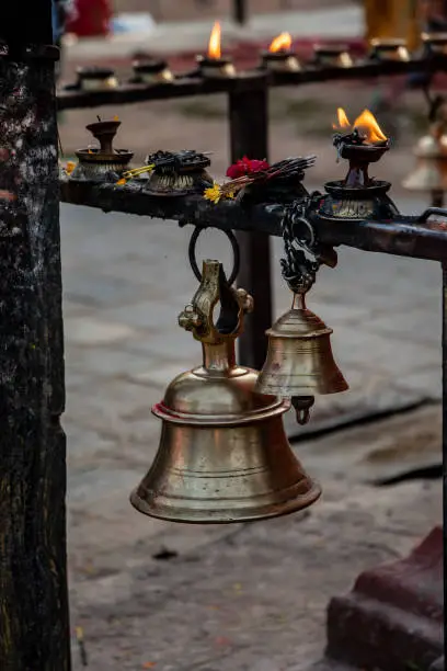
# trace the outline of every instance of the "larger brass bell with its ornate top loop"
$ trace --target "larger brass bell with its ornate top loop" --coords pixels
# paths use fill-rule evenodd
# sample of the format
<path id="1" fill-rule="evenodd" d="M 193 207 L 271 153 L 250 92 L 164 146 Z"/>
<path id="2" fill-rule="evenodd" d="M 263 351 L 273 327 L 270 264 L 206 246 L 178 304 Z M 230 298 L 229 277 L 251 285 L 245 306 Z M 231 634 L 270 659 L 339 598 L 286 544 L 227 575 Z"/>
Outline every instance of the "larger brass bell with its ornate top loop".
<path id="1" fill-rule="evenodd" d="M 284 431 L 289 401 L 255 394 L 257 372 L 236 363 L 234 342 L 252 303 L 228 285 L 218 261 L 204 262 L 199 288 L 179 317 L 202 343 L 203 365 L 173 379 L 152 408 L 162 430 L 154 462 L 130 496 L 140 512 L 175 522 L 242 522 L 301 510 L 320 497 Z"/>

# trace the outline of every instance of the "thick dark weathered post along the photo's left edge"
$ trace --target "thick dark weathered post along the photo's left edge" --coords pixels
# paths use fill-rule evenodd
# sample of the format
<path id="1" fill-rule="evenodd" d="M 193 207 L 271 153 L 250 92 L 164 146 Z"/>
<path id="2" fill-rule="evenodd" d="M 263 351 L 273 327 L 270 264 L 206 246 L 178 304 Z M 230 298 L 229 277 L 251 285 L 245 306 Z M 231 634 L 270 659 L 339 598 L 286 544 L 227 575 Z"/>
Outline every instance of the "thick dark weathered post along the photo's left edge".
<path id="1" fill-rule="evenodd" d="M 0 22 L 0 669 L 69 671 L 57 49 L 50 0 L 24 11 Z"/>

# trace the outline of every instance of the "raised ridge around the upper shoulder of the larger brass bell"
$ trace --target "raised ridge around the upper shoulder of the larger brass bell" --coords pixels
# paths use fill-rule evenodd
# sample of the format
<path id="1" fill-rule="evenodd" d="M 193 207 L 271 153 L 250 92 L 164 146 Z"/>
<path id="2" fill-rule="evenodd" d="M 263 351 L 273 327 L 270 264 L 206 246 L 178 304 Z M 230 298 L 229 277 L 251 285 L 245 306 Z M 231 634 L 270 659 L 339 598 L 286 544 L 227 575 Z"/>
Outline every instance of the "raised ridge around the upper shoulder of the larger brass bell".
<path id="1" fill-rule="evenodd" d="M 254 390 L 255 394 L 259 394 Z M 263 396 L 274 396 L 275 402 L 270 406 L 257 408 L 255 410 L 244 412 L 243 414 L 194 414 L 172 410 L 160 401 L 151 408 L 152 414 L 159 419 L 172 424 L 186 424 L 191 427 L 237 427 L 249 424 L 255 421 L 263 421 L 284 414 L 290 409 L 290 401 L 284 398 L 277 398 L 275 394 Z"/>

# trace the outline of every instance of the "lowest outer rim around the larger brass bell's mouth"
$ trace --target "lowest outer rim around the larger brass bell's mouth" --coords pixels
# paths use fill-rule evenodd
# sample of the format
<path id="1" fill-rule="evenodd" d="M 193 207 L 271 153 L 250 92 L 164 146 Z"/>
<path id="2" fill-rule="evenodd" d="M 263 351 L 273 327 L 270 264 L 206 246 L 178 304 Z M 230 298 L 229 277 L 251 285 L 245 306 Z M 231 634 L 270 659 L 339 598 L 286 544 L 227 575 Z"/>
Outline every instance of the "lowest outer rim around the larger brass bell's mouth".
<path id="1" fill-rule="evenodd" d="M 283 503 L 265 503 L 264 505 L 253 505 L 251 509 L 232 509 L 231 516 L 227 519 L 217 518 L 218 514 L 224 514 L 224 511 L 216 510 L 216 516 L 210 515 L 209 509 L 203 509 L 194 511 L 188 508 L 174 508 L 174 507 L 159 507 L 153 509 L 138 494 L 138 487 L 136 487 L 129 497 L 131 505 L 144 515 L 153 518 L 156 520 L 165 520 L 168 522 L 180 522 L 183 524 L 234 524 L 240 522 L 257 522 L 260 520 L 270 520 L 274 518 L 283 518 L 291 513 L 300 512 L 306 510 L 313 503 L 316 503 L 321 494 L 322 488 L 318 480 L 307 477 L 309 482 L 309 490 L 306 494 L 298 494 L 295 498 L 288 499 Z M 298 482 L 295 487 L 298 486 Z M 186 500 L 186 499 L 185 499 Z M 176 512 L 175 512 L 176 511 Z M 183 514 L 182 514 L 183 511 Z M 251 512 L 249 512 L 251 511 Z M 256 512 L 257 511 L 257 512 Z M 183 515 L 188 514 L 190 518 Z M 196 515 L 193 518 L 192 515 Z"/>

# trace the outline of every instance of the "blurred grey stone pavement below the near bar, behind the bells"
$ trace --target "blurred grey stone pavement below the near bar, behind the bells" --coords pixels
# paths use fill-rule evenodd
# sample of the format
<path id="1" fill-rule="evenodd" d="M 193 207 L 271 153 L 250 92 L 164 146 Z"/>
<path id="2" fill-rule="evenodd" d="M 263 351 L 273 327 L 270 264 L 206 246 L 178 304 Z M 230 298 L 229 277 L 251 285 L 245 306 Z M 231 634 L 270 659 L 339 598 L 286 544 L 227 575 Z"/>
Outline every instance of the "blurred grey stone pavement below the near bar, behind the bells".
<path id="1" fill-rule="evenodd" d="M 319 399 L 306 431 L 288 421 L 321 503 L 251 525 L 175 525 L 136 513 L 128 494 L 157 450 L 150 406 L 200 357 L 176 326 L 196 288 L 190 234 L 61 206 L 72 625 L 99 671 L 303 671 L 321 657 L 330 596 L 439 521 L 437 480 L 371 482 L 440 463 L 440 269 L 341 249 L 339 268 L 321 271 L 309 307 L 334 328 L 352 390 Z M 228 266 L 224 236 L 203 238 L 199 255 Z M 279 240 L 274 255 L 278 315 L 289 304 Z"/>

